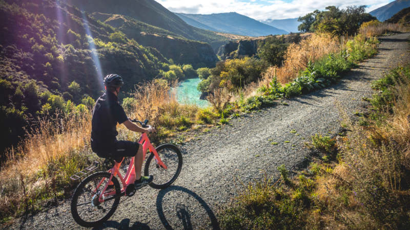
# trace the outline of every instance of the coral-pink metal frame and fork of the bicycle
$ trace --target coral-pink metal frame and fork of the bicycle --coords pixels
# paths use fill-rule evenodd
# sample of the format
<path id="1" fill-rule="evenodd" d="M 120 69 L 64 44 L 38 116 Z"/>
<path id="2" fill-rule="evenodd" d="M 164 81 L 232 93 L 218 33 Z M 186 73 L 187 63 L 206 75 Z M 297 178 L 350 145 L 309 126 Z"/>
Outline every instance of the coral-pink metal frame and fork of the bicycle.
<path id="1" fill-rule="evenodd" d="M 162 160 L 159 157 L 159 155 L 158 155 L 157 151 L 155 150 L 154 146 L 152 146 L 152 144 L 150 142 L 150 139 L 148 138 L 147 133 L 142 133 L 141 137 L 139 138 L 138 143 L 142 145 L 142 153 L 144 154 L 143 159 L 145 159 L 147 151 L 150 151 L 150 152 L 154 153 L 155 162 L 160 167 L 162 167 L 163 169 L 167 169 L 167 166 L 162 162 Z M 110 179 L 109 179 L 108 183 L 106 184 L 106 186 L 104 187 L 103 192 L 101 192 L 101 194 L 98 197 L 99 202 L 104 202 L 104 197 L 103 197 L 104 195 L 114 195 L 115 194 L 115 191 L 109 191 L 108 193 L 105 193 L 105 192 L 106 192 L 107 187 L 110 184 L 112 185 L 112 182 L 111 182 L 112 178 L 114 176 L 117 176 L 117 175 L 118 175 L 118 177 L 119 177 L 119 179 L 121 180 L 121 183 L 122 183 L 122 189 L 121 189 L 120 194 L 121 194 L 121 196 L 125 195 L 125 191 L 126 191 L 127 186 L 130 185 L 131 183 L 134 183 L 135 177 L 136 177 L 135 168 L 134 168 L 134 158 L 135 158 L 134 156 L 131 158 L 130 165 L 128 166 L 127 173 L 125 174 L 124 177 L 122 177 L 121 173 L 119 172 L 119 167 L 121 166 L 122 161 L 124 161 L 124 158 L 122 158 L 121 162 L 119 162 L 119 163 L 114 161 L 115 162 L 114 167 L 108 170 L 108 172 L 111 173 Z M 95 188 L 94 193 L 97 192 L 97 189 L 101 186 L 101 183 L 103 183 L 104 180 L 105 179 L 102 179 L 98 183 L 98 186 L 97 186 L 97 188 Z"/>

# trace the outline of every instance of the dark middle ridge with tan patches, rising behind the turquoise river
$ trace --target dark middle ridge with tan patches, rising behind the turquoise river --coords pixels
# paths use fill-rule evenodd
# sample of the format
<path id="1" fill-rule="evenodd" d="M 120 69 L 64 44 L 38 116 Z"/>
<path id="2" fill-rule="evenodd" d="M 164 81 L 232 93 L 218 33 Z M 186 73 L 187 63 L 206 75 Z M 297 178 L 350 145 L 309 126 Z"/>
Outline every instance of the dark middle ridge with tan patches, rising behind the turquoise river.
<path id="1" fill-rule="evenodd" d="M 148 25 L 132 17 L 117 14 L 93 13 L 94 18 L 119 29 L 145 47 L 153 47 L 177 64 L 213 67 L 218 60 L 208 43 L 188 40 L 173 32 Z"/>

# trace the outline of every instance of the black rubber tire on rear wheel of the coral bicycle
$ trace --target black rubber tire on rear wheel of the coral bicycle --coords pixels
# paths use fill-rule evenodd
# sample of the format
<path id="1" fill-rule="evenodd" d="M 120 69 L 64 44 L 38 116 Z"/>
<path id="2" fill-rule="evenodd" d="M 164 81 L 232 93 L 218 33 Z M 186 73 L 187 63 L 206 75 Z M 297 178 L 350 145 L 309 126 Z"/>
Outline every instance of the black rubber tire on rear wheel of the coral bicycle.
<path id="1" fill-rule="evenodd" d="M 71 215 L 73 216 L 73 219 L 75 220 L 75 222 L 77 222 L 79 225 L 84 226 L 84 227 L 93 227 L 93 226 L 98 226 L 101 223 L 105 222 L 106 220 L 108 220 L 108 218 L 110 218 L 115 210 L 118 207 L 119 204 L 119 199 L 120 199 L 120 193 L 121 193 L 121 188 L 119 186 L 119 182 L 118 179 L 113 177 L 112 178 L 112 182 L 114 184 L 114 188 L 115 189 L 115 195 L 112 195 L 108 198 L 105 198 L 106 202 L 102 202 L 102 203 L 98 203 L 95 204 L 96 198 L 98 197 L 98 188 L 101 188 L 101 190 L 104 188 L 105 186 L 105 182 L 103 181 L 103 183 L 98 187 L 97 184 L 99 181 L 103 180 L 104 178 L 106 178 L 105 181 L 108 181 L 111 177 L 111 174 L 108 172 L 96 172 L 91 174 L 90 176 L 86 177 L 83 181 L 81 181 L 79 183 L 79 185 L 77 186 L 77 188 L 75 189 L 74 193 L 73 193 L 73 197 L 71 200 Z M 96 188 L 97 192 L 93 192 L 92 188 L 87 188 L 86 186 L 90 183 L 94 183 L 94 188 Z M 92 186 L 92 185 L 91 185 Z M 98 188 L 97 188 L 98 187 Z M 88 192 L 89 194 L 85 194 L 86 192 Z M 107 191 L 106 191 L 107 192 Z M 84 194 L 84 201 L 85 203 L 83 204 L 78 204 L 79 198 L 81 195 Z M 93 195 L 94 194 L 94 195 Z M 93 195 L 93 196 L 91 196 Z M 103 217 L 98 218 L 97 220 L 86 220 L 86 217 L 91 217 L 95 214 L 92 214 L 93 210 L 94 211 L 101 211 L 100 204 L 106 204 L 109 201 L 114 200 L 112 202 L 111 208 L 109 208 L 109 211 L 107 212 L 107 214 L 105 214 Z M 89 202 L 87 202 L 89 201 Z M 111 203 L 111 202 L 110 202 Z M 81 210 L 81 213 L 78 213 L 78 207 L 84 205 L 85 213 L 83 213 L 83 211 Z M 105 209 L 104 209 L 105 210 Z"/>

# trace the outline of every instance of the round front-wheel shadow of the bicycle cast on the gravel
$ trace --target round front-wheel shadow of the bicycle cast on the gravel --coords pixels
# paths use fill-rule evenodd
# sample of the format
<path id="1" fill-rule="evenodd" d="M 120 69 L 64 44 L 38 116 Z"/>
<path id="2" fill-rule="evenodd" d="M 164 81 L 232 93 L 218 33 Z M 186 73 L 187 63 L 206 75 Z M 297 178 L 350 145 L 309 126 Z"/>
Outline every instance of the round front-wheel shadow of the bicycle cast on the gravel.
<path id="1" fill-rule="evenodd" d="M 169 198 L 165 198 L 167 194 L 170 196 Z M 166 206 L 165 212 L 164 206 Z M 173 206 L 173 209 L 170 209 L 170 206 Z M 180 186 L 170 186 L 167 189 L 159 191 L 156 200 L 156 208 L 158 212 L 158 217 L 161 220 L 162 225 L 166 229 L 173 229 L 171 225 L 175 224 L 175 216 L 178 219 L 178 228 L 194 228 L 192 226 L 192 219 L 194 219 L 194 224 L 196 225 L 197 219 L 195 218 L 198 217 L 198 212 L 202 214 L 206 213 L 206 215 L 208 215 L 208 218 L 211 221 L 210 226 L 208 227 L 212 226 L 213 229 L 220 229 L 218 220 L 216 219 L 215 214 L 213 213 L 209 205 L 199 195 L 197 195 L 195 192 L 187 188 L 183 188 Z M 203 211 L 205 213 L 203 213 Z M 174 217 L 174 220 L 168 220 L 166 216 L 168 216 L 169 219 Z M 199 216 L 201 215 L 199 214 Z M 204 223 L 203 216 L 204 215 L 202 215 L 202 218 L 200 220 L 201 223 Z M 171 224 L 170 221 L 172 221 L 173 223 Z M 195 226 L 195 228 L 196 227 L 197 226 Z M 199 227 L 201 228 L 204 226 Z"/>

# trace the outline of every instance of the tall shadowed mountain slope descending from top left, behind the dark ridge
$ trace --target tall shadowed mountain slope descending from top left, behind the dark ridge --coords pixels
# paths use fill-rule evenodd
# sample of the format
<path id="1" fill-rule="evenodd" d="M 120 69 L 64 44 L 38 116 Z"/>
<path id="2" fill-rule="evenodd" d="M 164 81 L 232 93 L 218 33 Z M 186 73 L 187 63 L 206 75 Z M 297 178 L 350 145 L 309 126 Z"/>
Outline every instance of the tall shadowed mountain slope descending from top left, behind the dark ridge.
<path id="1" fill-rule="evenodd" d="M 212 31 L 202 30 L 186 24 L 171 11 L 153 0 L 69 0 L 69 3 L 89 13 L 119 14 L 132 17 L 148 25 L 162 28 L 183 38 L 211 44 L 214 50 L 227 42 L 227 38 Z"/>

